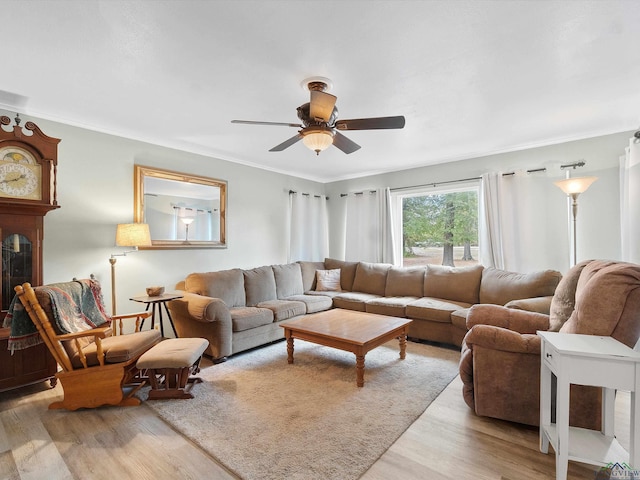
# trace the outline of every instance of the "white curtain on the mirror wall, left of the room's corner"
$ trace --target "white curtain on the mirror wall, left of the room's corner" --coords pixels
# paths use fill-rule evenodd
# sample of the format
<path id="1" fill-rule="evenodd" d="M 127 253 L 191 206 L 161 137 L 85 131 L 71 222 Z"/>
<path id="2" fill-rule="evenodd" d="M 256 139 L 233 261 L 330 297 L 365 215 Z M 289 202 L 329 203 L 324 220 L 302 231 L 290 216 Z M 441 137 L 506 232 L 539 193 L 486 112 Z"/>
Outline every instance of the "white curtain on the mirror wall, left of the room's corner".
<path id="1" fill-rule="evenodd" d="M 289 194 L 289 262 L 329 256 L 329 217 L 324 195 Z"/>

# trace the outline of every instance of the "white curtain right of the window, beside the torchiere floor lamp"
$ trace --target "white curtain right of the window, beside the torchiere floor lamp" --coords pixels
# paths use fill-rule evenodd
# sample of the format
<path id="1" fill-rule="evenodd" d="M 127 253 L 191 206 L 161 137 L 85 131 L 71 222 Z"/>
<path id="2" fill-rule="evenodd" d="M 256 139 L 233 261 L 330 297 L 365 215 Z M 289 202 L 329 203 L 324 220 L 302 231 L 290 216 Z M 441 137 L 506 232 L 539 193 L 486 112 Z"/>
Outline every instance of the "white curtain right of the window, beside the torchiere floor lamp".
<path id="1" fill-rule="evenodd" d="M 566 199 L 546 173 L 485 174 L 479 204 L 483 265 L 530 272 L 568 264 Z"/>

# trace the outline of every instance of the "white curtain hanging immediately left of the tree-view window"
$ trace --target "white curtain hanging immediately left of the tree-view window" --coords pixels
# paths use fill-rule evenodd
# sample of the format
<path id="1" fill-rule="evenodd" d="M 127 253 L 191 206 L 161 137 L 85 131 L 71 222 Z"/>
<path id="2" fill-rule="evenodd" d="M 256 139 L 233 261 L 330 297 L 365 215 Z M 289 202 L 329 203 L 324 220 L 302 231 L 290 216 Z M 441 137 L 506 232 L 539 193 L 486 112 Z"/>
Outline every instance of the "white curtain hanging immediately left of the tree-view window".
<path id="1" fill-rule="evenodd" d="M 345 260 L 395 264 L 389 188 L 347 195 Z"/>

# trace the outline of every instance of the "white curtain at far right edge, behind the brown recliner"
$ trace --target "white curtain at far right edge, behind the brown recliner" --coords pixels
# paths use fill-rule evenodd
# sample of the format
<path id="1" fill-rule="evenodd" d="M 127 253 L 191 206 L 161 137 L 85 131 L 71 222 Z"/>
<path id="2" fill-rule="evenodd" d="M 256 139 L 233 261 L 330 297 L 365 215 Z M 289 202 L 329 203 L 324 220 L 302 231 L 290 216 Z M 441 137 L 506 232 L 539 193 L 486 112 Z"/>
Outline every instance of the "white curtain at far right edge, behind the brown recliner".
<path id="1" fill-rule="evenodd" d="M 622 260 L 640 263 L 640 143 L 629 141 L 620 157 Z"/>

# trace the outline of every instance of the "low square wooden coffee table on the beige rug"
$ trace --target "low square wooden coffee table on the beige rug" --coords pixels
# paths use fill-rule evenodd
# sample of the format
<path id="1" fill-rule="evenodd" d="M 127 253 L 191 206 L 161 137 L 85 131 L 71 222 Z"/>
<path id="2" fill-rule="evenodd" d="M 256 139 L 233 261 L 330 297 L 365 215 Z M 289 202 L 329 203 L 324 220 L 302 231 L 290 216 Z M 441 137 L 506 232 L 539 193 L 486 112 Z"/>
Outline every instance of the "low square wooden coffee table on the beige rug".
<path id="1" fill-rule="evenodd" d="M 293 363 L 293 339 L 352 352 L 356 356 L 356 383 L 364 386 L 364 356 L 383 343 L 398 338 L 400 358 L 407 351 L 408 318 L 335 308 L 306 315 L 280 325 L 287 339 L 288 362 Z"/>

